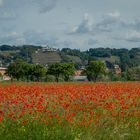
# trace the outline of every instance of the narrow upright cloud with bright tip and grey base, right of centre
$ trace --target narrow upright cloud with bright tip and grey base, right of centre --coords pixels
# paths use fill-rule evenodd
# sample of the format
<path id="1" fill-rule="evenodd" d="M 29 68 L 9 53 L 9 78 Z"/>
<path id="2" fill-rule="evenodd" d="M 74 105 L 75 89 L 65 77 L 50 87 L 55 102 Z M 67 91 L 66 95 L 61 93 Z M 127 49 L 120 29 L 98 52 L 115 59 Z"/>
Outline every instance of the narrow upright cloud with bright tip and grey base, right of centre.
<path id="1" fill-rule="evenodd" d="M 93 18 L 89 14 L 84 15 L 83 21 L 71 29 L 70 34 L 91 32 L 93 27 Z"/>

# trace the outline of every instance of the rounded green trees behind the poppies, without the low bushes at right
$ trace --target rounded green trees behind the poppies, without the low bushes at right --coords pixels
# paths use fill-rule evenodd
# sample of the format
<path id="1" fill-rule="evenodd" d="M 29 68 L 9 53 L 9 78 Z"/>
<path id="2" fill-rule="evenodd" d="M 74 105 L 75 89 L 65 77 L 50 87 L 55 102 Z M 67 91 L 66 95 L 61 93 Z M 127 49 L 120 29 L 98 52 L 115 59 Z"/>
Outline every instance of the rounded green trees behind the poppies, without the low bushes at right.
<path id="1" fill-rule="evenodd" d="M 102 61 L 91 61 L 82 71 L 89 81 L 97 81 L 99 76 L 106 74 L 106 65 Z M 6 74 L 13 81 L 72 81 L 75 74 L 74 63 L 54 63 L 48 68 L 39 64 L 30 64 L 23 60 L 12 62 L 6 71 Z"/>

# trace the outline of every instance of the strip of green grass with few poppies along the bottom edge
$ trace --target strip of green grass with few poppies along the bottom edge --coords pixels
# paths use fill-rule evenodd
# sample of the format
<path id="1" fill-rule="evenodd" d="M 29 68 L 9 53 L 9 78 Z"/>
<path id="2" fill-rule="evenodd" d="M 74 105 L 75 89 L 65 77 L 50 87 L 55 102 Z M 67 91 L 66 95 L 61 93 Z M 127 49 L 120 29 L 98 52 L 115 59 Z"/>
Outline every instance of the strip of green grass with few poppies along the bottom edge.
<path id="1" fill-rule="evenodd" d="M 64 122 L 60 126 L 30 121 L 23 125 L 20 121 L 6 120 L 0 124 L 1 140 L 139 140 L 138 126 L 127 124 L 71 127 Z"/>

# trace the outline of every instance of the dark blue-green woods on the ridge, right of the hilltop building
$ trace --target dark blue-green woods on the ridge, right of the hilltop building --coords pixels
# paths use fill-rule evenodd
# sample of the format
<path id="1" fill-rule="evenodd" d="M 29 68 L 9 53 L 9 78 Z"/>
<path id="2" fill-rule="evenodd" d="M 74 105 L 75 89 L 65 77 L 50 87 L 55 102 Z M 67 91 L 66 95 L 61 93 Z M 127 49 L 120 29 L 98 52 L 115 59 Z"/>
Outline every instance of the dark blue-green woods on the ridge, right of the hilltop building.
<path id="1" fill-rule="evenodd" d="M 140 66 L 140 48 L 132 48 L 131 50 L 125 48 L 91 48 L 84 52 L 77 49 L 64 48 L 61 50 L 61 53 L 80 57 L 82 64 L 85 64 L 85 61 L 89 62 L 102 59 L 106 62 L 109 69 L 112 69 L 114 64 L 118 64 L 122 71 L 126 71 L 128 68 Z M 106 58 L 111 58 L 112 56 L 118 57 L 118 60 L 115 60 L 114 62 L 106 60 Z"/>

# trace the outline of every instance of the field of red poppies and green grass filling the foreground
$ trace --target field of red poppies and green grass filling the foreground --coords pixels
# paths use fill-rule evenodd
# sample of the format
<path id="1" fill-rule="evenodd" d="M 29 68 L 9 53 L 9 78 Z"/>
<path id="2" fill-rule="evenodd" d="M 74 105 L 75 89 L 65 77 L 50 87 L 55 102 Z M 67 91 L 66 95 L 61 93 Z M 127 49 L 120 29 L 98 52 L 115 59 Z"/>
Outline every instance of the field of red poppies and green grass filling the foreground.
<path id="1" fill-rule="evenodd" d="M 139 138 L 140 82 L 0 84 L 0 140 Z"/>

